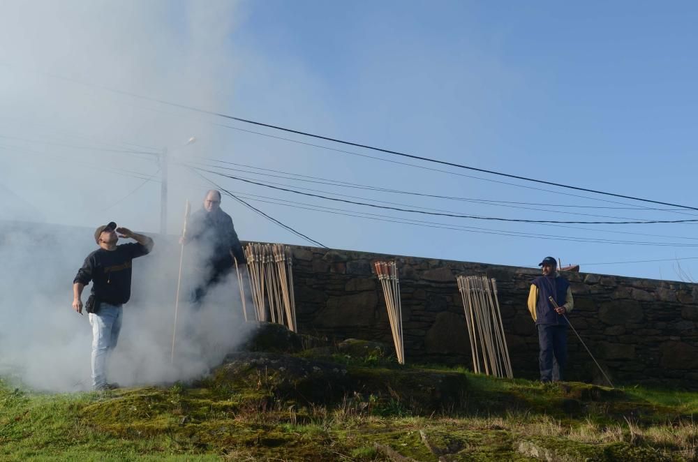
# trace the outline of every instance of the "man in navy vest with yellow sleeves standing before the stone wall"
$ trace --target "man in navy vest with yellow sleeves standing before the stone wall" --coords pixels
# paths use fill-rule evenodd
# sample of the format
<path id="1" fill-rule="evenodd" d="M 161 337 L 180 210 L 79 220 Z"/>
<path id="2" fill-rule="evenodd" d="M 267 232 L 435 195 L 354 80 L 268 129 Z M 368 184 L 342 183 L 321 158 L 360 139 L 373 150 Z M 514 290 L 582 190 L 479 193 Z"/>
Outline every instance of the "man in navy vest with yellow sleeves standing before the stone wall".
<path id="1" fill-rule="evenodd" d="M 530 283 L 528 311 L 538 330 L 540 380 L 558 381 L 563 380 L 567 363 L 565 314 L 574 308 L 574 299 L 570 283 L 557 273 L 554 258 L 546 257 L 538 266 L 542 267 L 543 274 Z"/>

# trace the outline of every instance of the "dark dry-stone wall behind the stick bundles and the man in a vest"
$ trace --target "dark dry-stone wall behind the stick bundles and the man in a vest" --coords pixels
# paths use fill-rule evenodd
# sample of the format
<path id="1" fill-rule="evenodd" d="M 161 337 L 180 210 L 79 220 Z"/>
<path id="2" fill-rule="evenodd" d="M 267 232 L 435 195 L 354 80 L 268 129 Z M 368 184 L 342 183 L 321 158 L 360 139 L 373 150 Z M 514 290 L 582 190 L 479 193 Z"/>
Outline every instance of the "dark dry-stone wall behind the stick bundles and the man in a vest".
<path id="1" fill-rule="evenodd" d="M 293 247 L 299 331 L 392 345 L 383 290 L 372 262 L 396 259 L 407 362 L 472 368 L 456 275 L 496 278 L 515 377 L 537 378 L 537 335 L 526 309 L 535 269 Z M 611 380 L 697 389 L 698 285 L 565 274 L 575 309 L 570 322 Z M 571 330 L 569 380 L 604 383 Z"/>

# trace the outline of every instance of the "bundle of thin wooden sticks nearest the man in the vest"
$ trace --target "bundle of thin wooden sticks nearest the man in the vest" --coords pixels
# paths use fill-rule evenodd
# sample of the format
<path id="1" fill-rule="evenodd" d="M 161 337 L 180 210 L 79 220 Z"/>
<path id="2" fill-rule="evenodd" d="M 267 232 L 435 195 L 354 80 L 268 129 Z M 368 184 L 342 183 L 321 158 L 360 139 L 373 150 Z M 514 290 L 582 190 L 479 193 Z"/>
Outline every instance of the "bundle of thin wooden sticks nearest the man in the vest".
<path id="1" fill-rule="evenodd" d="M 466 312 L 473 371 L 513 378 L 497 297 L 497 281 L 484 276 L 458 276 L 457 280 Z"/>

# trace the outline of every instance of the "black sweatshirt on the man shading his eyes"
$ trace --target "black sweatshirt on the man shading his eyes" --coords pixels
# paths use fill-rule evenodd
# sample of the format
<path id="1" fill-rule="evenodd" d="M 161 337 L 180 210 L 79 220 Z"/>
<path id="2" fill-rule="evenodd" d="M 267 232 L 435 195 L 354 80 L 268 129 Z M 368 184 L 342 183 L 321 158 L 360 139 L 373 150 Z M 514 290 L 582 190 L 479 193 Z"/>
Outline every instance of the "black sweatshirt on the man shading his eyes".
<path id="1" fill-rule="evenodd" d="M 149 252 L 142 244 L 121 244 L 114 251 L 98 248 L 87 255 L 73 283 L 88 285 L 98 301 L 125 304 L 131 298 L 131 261 Z"/>

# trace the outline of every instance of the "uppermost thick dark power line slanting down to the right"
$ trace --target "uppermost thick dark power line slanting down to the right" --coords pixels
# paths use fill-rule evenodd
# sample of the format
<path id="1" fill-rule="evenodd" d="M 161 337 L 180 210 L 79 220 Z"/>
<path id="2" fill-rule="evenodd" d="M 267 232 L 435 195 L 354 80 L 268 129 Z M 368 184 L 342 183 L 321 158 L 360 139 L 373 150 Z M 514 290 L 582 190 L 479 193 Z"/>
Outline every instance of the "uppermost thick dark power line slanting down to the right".
<path id="1" fill-rule="evenodd" d="M 159 103 L 159 104 L 163 104 L 163 105 L 170 105 L 170 106 L 172 106 L 172 107 L 179 107 L 180 109 L 190 110 L 190 111 L 193 111 L 193 112 L 199 112 L 199 113 L 201 113 L 201 114 L 209 114 L 209 115 L 213 115 L 213 116 L 216 116 L 216 117 L 222 117 L 223 119 L 235 120 L 235 121 L 243 122 L 244 124 L 251 124 L 251 125 L 255 125 L 255 126 L 262 126 L 262 127 L 265 127 L 265 128 L 272 128 L 272 129 L 274 129 L 274 130 L 283 131 L 283 132 L 286 132 L 286 133 L 294 133 L 295 135 L 302 135 L 302 136 L 306 136 L 306 137 L 312 137 L 312 138 L 315 138 L 315 139 L 318 139 L 318 140 L 325 140 L 325 141 L 329 141 L 329 142 L 335 142 L 335 143 L 338 143 L 338 144 L 345 144 L 345 145 L 347 145 L 347 146 L 359 147 L 359 148 L 362 148 L 362 149 L 369 149 L 369 150 L 371 150 L 371 151 L 383 152 L 383 153 L 385 153 L 385 154 L 391 154 L 391 155 L 393 155 L 393 156 L 401 156 L 401 157 L 405 157 L 405 158 L 415 159 L 415 160 L 418 160 L 418 161 L 424 161 L 424 162 L 429 162 L 429 163 L 437 163 L 437 164 L 440 164 L 440 165 L 447 165 L 447 166 L 450 166 L 450 167 L 456 167 L 456 168 L 461 168 L 461 169 L 465 169 L 465 170 L 472 170 L 472 171 L 475 171 L 475 172 L 482 172 L 482 173 L 487 173 L 487 174 L 493 174 L 493 175 L 497 175 L 497 176 L 500 176 L 500 177 L 507 177 L 507 178 L 512 178 L 512 179 L 520 179 L 520 180 L 522 180 L 522 181 L 531 181 L 531 182 L 539 183 L 539 184 L 547 184 L 547 185 L 549 185 L 549 186 L 557 186 L 558 188 L 567 188 L 567 189 L 572 189 L 572 190 L 574 190 L 574 191 L 585 191 L 585 192 L 587 192 L 587 193 L 595 193 L 595 194 L 600 194 L 600 195 L 608 195 L 608 196 L 616 197 L 616 198 L 623 198 L 623 199 L 629 199 L 629 200 L 637 200 L 637 201 L 639 201 L 639 202 L 648 202 L 648 203 L 652 203 L 652 204 L 667 205 L 667 206 L 669 206 L 669 207 L 679 207 L 679 208 L 681 208 L 681 209 L 690 209 L 690 210 L 697 210 L 697 211 L 698 211 L 698 207 L 690 207 L 690 206 L 687 206 L 687 205 L 673 204 L 673 203 L 671 203 L 671 202 L 662 202 L 662 201 L 658 201 L 658 200 L 651 200 L 651 199 L 638 198 L 638 197 L 631 196 L 631 195 L 623 195 L 623 194 L 617 194 L 617 193 L 609 193 L 609 192 L 607 192 L 607 191 L 599 191 L 599 190 L 595 190 L 595 189 L 591 189 L 591 188 L 582 188 L 582 187 L 579 187 L 579 186 L 571 186 L 571 185 L 567 185 L 567 184 L 556 183 L 556 182 L 554 182 L 554 181 L 546 181 L 546 180 L 534 179 L 534 178 L 530 178 L 530 177 L 523 177 L 523 176 L 520 176 L 520 175 L 508 174 L 508 173 L 504 173 L 504 172 L 497 172 L 496 170 L 487 170 L 487 169 L 478 168 L 478 167 L 470 167 L 469 165 L 463 165 L 463 164 L 454 163 L 454 162 L 449 162 L 449 161 L 442 161 L 442 160 L 436 159 L 436 158 L 429 158 L 429 157 L 424 157 L 424 156 L 416 156 L 416 155 L 414 155 L 414 154 L 407 154 L 407 153 L 404 153 L 404 152 L 401 152 L 401 151 L 394 151 L 394 150 L 392 150 L 392 149 L 384 149 L 384 148 L 380 148 L 380 147 L 374 147 L 374 146 L 371 146 L 371 145 L 369 145 L 369 144 L 362 144 L 362 143 L 358 143 L 358 142 L 350 142 L 350 141 L 346 141 L 346 140 L 341 140 L 341 139 L 339 139 L 339 138 L 328 137 L 328 136 L 324 136 L 324 135 L 317 135 L 317 134 L 315 134 L 315 133 L 309 133 L 309 132 L 305 132 L 305 131 L 294 130 L 294 129 L 292 129 L 292 128 L 285 128 L 285 127 L 283 127 L 283 126 L 278 126 L 278 125 L 274 125 L 274 124 L 265 124 L 265 123 L 263 123 L 263 122 L 254 121 L 254 120 L 251 120 L 251 119 L 244 119 L 244 118 L 242 118 L 242 117 L 235 117 L 235 116 L 232 116 L 232 115 L 230 115 L 230 114 L 224 114 L 223 112 L 216 112 L 216 111 L 211 111 L 211 110 L 205 110 L 205 109 L 202 109 L 201 107 L 195 107 L 195 106 L 190 106 L 190 105 L 184 105 L 184 104 L 180 104 L 180 103 L 172 103 L 172 102 L 167 101 L 167 100 L 161 100 L 161 99 L 158 99 L 158 98 L 151 98 L 151 97 L 149 97 L 149 96 L 143 96 L 143 95 L 135 94 L 135 93 L 132 93 L 132 92 L 130 92 L 130 91 L 112 89 L 112 88 L 110 88 L 110 87 L 105 87 L 105 86 L 103 86 L 103 85 L 91 84 L 91 83 L 89 83 L 89 82 L 83 82 L 83 81 L 81 81 L 81 80 L 77 80 L 77 79 L 74 79 L 74 78 L 68 78 L 68 77 L 64 77 L 64 76 L 60 76 L 60 75 L 55 75 L 55 74 L 52 74 L 52 73 L 46 73 L 46 72 L 41 72 L 41 71 L 36 71 L 36 72 L 37 72 L 37 73 L 40 73 L 40 74 L 42 74 L 42 75 L 47 75 L 47 76 L 50 76 L 50 77 L 53 77 L 53 78 L 57 78 L 57 79 L 61 79 L 61 80 L 67 80 L 67 81 L 69 81 L 69 82 L 79 83 L 79 84 L 86 85 L 86 86 L 89 86 L 89 87 L 96 87 L 96 88 L 99 88 L 99 89 L 103 89 L 103 90 L 105 90 L 105 91 L 110 91 L 110 92 L 115 93 L 115 94 L 121 94 L 121 95 L 131 96 L 132 98 L 139 98 L 139 99 L 151 101 L 151 102 L 154 102 L 154 103 Z M 672 223 L 673 223 L 673 222 L 672 222 Z M 679 223 L 680 223 L 680 222 L 679 222 Z"/>

